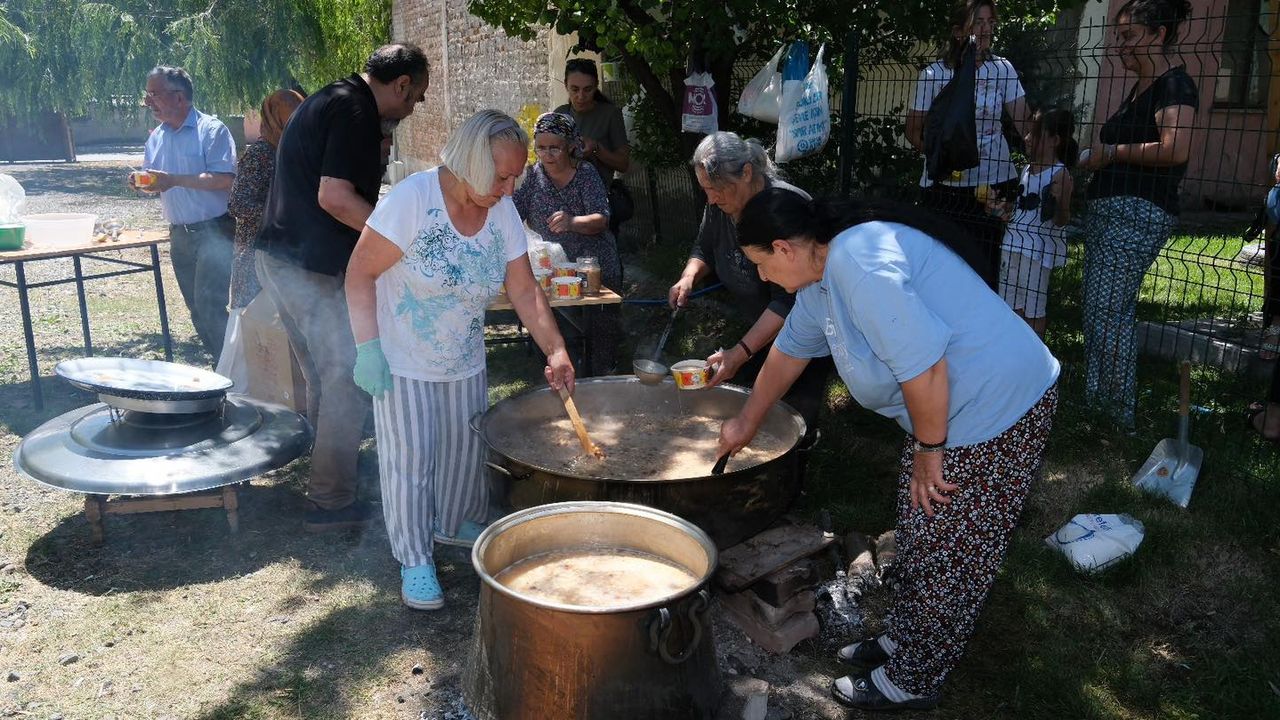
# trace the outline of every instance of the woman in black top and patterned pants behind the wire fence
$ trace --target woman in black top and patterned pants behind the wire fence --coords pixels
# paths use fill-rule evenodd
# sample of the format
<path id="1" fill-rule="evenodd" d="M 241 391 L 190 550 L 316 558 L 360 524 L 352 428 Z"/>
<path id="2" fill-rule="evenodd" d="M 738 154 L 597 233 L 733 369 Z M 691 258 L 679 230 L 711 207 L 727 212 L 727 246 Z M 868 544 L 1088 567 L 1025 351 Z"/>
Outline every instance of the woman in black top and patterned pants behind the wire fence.
<path id="1" fill-rule="evenodd" d="M 1138 76 L 1120 109 L 1082 154 L 1094 170 L 1084 245 L 1084 354 L 1089 401 L 1134 424 L 1138 288 L 1178 217 L 1178 184 L 1199 105 L 1196 82 L 1169 47 L 1187 0 L 1129 0 L 1115 15 L 1116 55 Z"/>

